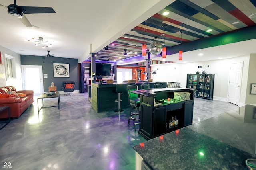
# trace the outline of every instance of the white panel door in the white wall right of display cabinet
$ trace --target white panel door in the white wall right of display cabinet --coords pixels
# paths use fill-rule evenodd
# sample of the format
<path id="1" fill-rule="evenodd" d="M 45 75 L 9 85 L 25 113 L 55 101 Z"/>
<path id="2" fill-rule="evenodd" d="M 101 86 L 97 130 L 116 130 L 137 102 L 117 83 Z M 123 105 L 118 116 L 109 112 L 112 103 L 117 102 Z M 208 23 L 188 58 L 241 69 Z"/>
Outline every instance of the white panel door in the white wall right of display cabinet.
<path id="1" fill-rule="evenodd" d="M 233 63 L 230 66 L 228 102 L 236 105 L 240 101 L 242 66 L 243 62 Z"/>

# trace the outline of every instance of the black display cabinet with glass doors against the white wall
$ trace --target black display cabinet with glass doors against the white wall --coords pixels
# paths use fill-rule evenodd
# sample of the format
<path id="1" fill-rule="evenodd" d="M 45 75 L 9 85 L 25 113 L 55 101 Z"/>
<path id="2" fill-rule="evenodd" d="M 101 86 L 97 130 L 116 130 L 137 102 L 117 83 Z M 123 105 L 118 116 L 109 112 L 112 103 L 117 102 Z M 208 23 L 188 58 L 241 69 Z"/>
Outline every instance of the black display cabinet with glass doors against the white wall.
<path id="1" fill-rule="evenodd" d="M 195 97 L 212 99 L 214 74 L 187 74 L 187 88 L 197 89 Z"/>

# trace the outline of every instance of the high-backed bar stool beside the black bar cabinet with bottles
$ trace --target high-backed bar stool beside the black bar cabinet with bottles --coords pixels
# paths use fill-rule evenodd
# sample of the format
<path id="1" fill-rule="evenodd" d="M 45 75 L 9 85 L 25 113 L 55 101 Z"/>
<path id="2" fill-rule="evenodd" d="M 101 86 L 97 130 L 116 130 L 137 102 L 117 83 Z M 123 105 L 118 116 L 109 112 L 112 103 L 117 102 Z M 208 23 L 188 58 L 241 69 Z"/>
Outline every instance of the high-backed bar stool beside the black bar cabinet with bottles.
<path id="1" fill-rule="evenodd" d="M 127 87 L 127 93 L 128 93 L 128 100 L 130 102 L 130 113 L 129 113 L 129 120 L 128 125 L 130 125 L 130 120 L 134 121 L 135 131 L 136 131 L 136 125 L 138 125 L 140 122 L 140 118 L 137 118 L 137 109 L 140 107 L 140 98 L 138 97 L 138 94 L 132 93 L 130 91 L 138 90 L 138 85 L 132 84 L 128 85 Z M 132 110 L 135 109 L 135 112 L 132 112 Z M 140 116 L 139 116 L 140 117 Z M 138 121 L 138 122 L 137 122 Z"/>

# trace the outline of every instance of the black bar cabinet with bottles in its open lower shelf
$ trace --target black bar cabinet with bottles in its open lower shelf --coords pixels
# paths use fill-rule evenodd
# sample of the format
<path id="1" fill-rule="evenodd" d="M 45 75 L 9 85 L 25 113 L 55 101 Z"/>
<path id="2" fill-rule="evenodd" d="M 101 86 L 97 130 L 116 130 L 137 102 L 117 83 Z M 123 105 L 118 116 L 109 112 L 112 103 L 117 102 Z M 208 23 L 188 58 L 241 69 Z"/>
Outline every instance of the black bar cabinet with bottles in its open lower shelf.
<path id="1" fill-rule="evenodd" d="M 159 88 L 135 90 L 133 92 L 140 94 L 140 129 L 138 133 L 146 139 L 152 139 L 192 124 L 193 90 L 187 88 Z M 169 102 L 167 98 L 173 99 L 174 92 L 190 92 L 190 100 L 171 100 Z M 162 100 L 164 102 L 158 103 Z M 178 125 L 169 127 L 169 122 L 175 116 L 178 119 Z"/>

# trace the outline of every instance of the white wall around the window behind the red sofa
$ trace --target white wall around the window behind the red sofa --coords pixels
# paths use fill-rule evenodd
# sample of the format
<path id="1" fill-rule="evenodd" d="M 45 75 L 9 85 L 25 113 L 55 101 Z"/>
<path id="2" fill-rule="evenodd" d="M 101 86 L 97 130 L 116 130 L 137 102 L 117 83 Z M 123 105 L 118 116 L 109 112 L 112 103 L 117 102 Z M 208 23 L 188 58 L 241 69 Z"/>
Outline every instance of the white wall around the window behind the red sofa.
<path id="1" fill-rule="evenodd" d="M 16 88 L 16 90 L 22 90 L 20 55 L 2 46 L 0 46 L 0 51 L 1 51 L 1 57 L 2 57 L 2 65 L 0 69 L 0 87 L 12 85 Z M 4 66 L 5 54 L 8 54 L 15 58 L 14 70 L 15 70 L 16 78 L 8 78 L 8 80 L 6 80 L 5 78 L 5 66 Z"/>

